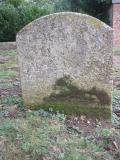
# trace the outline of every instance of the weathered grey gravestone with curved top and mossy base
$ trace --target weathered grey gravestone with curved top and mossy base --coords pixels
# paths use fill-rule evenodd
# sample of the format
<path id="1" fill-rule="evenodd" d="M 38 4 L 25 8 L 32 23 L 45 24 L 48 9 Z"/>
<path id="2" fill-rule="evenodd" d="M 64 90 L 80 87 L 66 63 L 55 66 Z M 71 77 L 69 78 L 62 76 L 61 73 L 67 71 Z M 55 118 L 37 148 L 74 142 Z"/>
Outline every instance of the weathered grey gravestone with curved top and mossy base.
<path id="1" fill-rule="evenodd" d="M 111 117 L 112 29 L 80 13 L 39 18 L 17 34 L 25 105 Z"/>

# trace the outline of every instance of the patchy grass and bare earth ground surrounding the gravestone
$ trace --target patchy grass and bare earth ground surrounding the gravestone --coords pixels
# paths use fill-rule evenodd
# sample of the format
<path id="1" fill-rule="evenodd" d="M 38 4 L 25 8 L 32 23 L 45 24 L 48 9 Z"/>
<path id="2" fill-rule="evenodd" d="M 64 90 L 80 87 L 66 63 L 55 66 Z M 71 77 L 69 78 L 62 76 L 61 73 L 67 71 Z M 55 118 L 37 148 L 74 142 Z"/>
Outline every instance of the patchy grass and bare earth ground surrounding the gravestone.
<path id="1" fill-rule="evenodd" d="M 120 160 L 120 54 L 114 55 L 112 124 L 25 109 L 16 50 L 0 50 L 0 160 Z"/>

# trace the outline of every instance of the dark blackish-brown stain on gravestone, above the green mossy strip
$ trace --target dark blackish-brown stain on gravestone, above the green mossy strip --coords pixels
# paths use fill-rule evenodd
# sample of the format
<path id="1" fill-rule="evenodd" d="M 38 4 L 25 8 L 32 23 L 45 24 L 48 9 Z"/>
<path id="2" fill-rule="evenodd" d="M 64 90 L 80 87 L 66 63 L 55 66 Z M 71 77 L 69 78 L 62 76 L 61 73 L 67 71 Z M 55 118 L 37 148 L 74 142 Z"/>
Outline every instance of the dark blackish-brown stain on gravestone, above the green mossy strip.
<path id="1" fill-rule="evenodd" d="M 49 97 L 44 98 L 45 102 L 76 99 L 79 102 L 97 103 L 103 106 L 111 104 L 111 98 L 107 92 L 97 89 L 96 87 L 90 90 L 79 89 L 72 84 L 72 80 L 69 76 L 58 79 L 54 90 L 55 91 Z"/>

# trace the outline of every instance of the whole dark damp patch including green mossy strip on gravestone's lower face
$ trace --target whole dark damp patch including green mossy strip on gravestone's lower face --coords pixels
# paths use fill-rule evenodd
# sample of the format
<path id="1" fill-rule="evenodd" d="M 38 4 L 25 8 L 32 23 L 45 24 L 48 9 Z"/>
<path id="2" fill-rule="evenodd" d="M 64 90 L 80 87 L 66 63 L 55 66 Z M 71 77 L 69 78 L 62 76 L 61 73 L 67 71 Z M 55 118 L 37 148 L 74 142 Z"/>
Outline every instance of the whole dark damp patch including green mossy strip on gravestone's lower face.
<path id="1" fill-rule="evenodd" d="M 79 89 L 72 84 L 69 76 L 58 79 L 53 88 L 53 93 L 44 97 L 42 104 L 32 105 L 31 109 L 53 108 L 66 114 L 86 114 L 111 119 L 111 98 L 104 90 L 96 87 L 90 90 Z"/>

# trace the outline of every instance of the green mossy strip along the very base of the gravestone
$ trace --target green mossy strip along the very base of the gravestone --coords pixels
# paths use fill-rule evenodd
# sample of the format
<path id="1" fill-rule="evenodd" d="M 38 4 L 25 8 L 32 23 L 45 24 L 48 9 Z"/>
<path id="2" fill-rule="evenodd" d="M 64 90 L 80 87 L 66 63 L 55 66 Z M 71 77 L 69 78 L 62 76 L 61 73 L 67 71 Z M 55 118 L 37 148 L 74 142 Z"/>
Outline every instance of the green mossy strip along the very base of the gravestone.
<path id="1" fill-rule="evenodd" d="M 97 118 L 111 119 L 110 109 L 98 105 L 80 103 L 76 100 L 74 101 L 57 101 L 57 102 L 48 102 L 41 105 L 33 105 L 30 109 L 38 110 L 43 108 L 44 110 L 49 110 L 52 108 L 54 111 L 64 112 L 65 114 L 76 114 L 76 115 L 87 115 Z"/>

